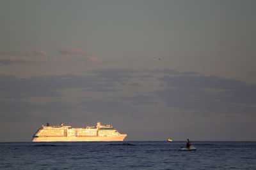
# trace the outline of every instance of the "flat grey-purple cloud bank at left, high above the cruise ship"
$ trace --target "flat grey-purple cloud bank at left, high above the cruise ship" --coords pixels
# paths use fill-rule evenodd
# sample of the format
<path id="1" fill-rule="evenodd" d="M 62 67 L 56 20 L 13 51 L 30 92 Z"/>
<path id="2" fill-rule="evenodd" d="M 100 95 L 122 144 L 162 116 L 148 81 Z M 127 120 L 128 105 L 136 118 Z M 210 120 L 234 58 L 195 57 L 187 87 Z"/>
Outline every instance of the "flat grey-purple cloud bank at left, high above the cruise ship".
<path id="1" fill-rule="evenodd" d="M 16 78 L 0 74 L 0 96 L 8 98 L 28 97 L 60 97 L 60 92 L 67 88 L 84 88 L 91 91 L 111 90 L 115 85 L 106 83 L 97 76 L 33 76 L 31 78 Z"/>

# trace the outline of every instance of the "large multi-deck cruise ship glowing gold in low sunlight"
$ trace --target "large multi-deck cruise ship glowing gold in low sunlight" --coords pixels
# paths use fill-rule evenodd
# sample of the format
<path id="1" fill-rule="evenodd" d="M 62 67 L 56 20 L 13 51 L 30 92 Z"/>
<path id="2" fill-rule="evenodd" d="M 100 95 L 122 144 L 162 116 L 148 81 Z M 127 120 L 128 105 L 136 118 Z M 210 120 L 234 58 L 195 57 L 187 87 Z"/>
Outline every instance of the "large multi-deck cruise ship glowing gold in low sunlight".
<path id="1" fill-rule="evenodd" d="M 42 125 L 33 135 L 33 142 L 53 141 L 124 141 L 127 134 L 120 134 L 111 125 L 97 123 L 95 127 L 72 128 L 60 123 L 59 126 Z"/>

